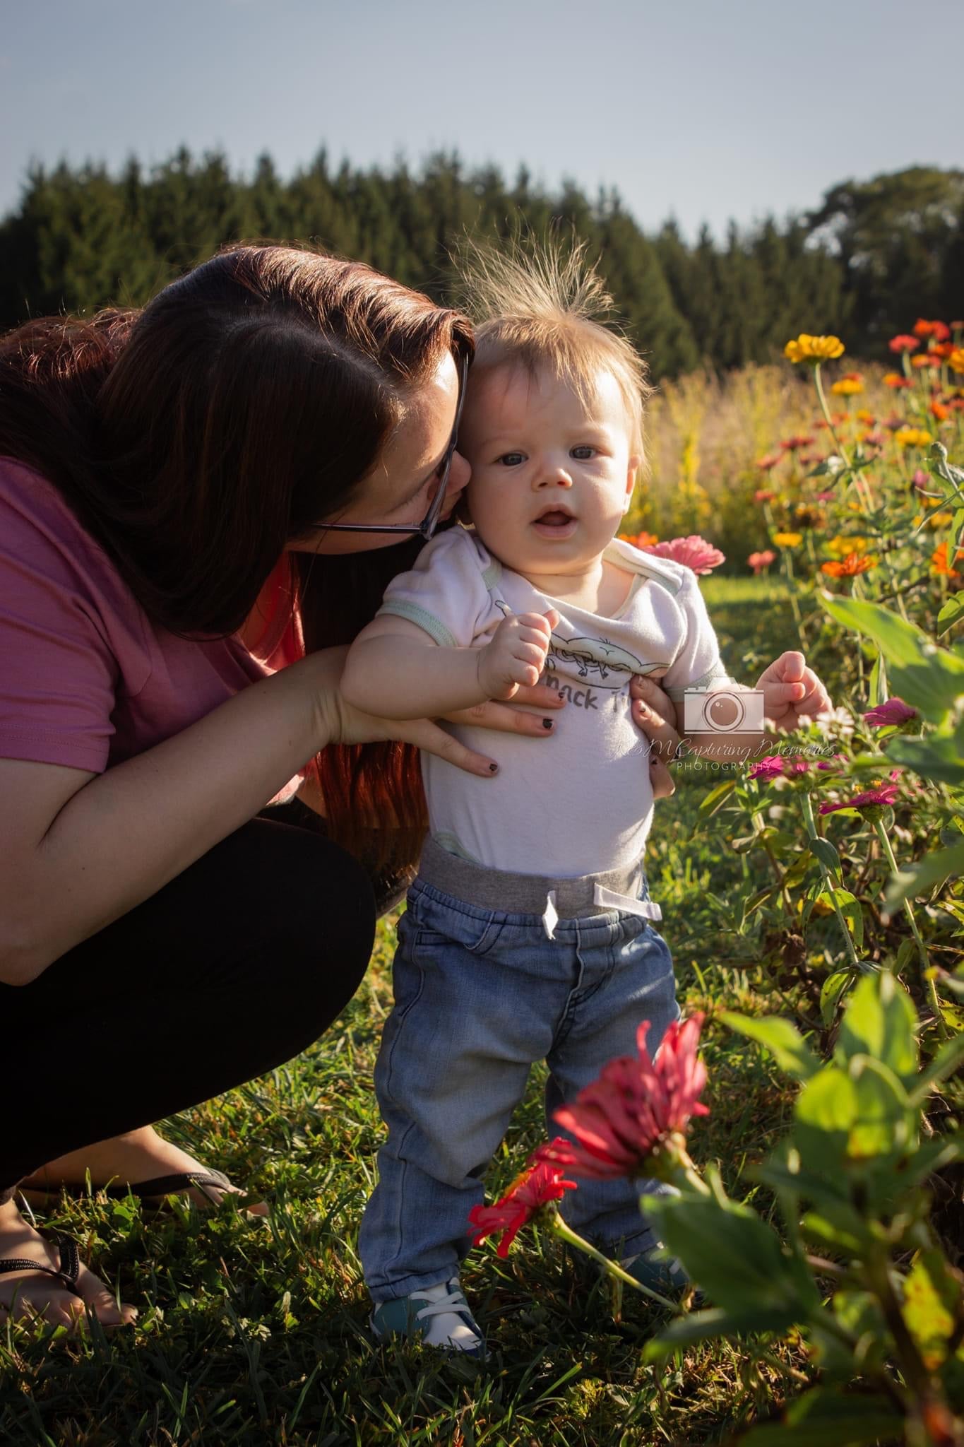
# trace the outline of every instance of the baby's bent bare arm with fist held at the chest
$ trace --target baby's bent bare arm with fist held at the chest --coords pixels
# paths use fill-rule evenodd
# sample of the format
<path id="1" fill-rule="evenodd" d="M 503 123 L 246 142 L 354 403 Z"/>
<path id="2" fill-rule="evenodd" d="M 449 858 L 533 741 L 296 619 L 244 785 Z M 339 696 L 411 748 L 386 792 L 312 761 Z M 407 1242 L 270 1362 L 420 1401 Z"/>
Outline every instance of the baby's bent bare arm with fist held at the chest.
<path id="1" fill-rule="evenodd" d="M 445 648 L 408 618 L 380 614 L 348 650 L 341 693 L 389 719 L 439 718 L 539 682 L 555 609 L 503 618 L 480 648 Z"/>

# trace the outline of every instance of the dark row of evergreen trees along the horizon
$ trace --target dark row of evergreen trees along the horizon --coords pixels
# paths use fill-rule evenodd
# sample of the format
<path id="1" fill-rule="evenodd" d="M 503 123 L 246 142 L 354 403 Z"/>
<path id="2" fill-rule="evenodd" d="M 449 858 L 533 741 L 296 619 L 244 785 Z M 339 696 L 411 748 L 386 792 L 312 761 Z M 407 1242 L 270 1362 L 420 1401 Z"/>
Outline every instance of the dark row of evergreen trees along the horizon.
<path id="1" fill-rule="evenodd" d="M 455 155 L 418 174 L 312 165 L 282 179 L 270 156 L 234 177 L 220 153 L 181 149 L 146 172 L 130 159 L 33 168 L 0 221 L 0 330 L 32 315 L 140 305 L 225 242 L 312 242 L 454 300 L 451 252 L 494 242 L 585 239 L 620 320 L 655 376 L 770 360 L 798 331 L 832 331 L 883 356 L 918 315 L 964 315 L 964 171 L 915 166 L 832 187 L 822 205 L 689 245 L 675 221 L 645 233 L 616 191 L 551 194 L 520 169 L 468 171 Z"/>

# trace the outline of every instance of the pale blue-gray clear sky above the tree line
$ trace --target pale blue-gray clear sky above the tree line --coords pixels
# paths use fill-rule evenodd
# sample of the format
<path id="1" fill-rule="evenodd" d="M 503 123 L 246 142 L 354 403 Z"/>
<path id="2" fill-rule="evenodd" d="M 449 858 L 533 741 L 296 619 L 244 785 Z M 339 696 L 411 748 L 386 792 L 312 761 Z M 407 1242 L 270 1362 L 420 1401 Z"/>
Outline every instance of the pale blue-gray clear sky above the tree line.
<path id="1" fill-rule="evenodd" d="M 689 237 L 964 166 L 960 0 L 0 0 L 0 214 L 30 162 L 181 145 L 282 175 L 322 146 L 389 168 L 458 150 L 614 187 Z"/>

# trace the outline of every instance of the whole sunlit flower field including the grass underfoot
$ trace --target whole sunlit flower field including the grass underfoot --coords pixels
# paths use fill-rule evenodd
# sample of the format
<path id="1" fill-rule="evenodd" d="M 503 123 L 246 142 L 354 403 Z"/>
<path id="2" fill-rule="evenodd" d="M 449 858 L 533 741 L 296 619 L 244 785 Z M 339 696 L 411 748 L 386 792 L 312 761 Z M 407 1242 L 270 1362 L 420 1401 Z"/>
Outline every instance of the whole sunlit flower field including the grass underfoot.
<path id="1" fill-rule="evenodd" d="M 919 320 L 860 369 L 801 334 L 650 408 L 632 534 L 704 574 L 734 677 L 801 648 L 835 712 L 750 767 L 678 765 L 647 875 L 685 1022 L 548 1130 L 533 1071 L 467 1223 L 489 1362 L 366 1331 L 389 920 L 318 1046 L 168 1124 L 270 1224 L 62 1202 L 140 1323 L 56 1350 L 12 1330 L 4 1441 L 960 1447 L 963 330 Z M 647 1211 L 705 1299 L 581 1253 L 556 1204 L 614 1171 L 678 1188 Z"/>

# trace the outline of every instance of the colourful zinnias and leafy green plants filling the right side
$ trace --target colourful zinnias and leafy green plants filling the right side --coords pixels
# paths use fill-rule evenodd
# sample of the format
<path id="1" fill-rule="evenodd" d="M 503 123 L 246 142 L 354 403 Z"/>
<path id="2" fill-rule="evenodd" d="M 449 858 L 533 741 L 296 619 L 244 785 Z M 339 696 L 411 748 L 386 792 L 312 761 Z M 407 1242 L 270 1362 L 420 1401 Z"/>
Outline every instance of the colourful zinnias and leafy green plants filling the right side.
<path id="1" fill-rule="evenodd" d="M 646 1213 L 708 1308 L 691 1292 L 687 1305 L 701 1310 L 676 1314 L 645 1360 L 663 1363 L 707 1338 L 791 1334 L 817 1369 L 812 1383 L 801 1375 L 806 1388 L 779 1422 L 740 1438 L 753 1447 L 964 1440 L 964 1153 L 954 1114 L 964 1062 L 964 651 L 952 641 L 964 619 L 964 470 L 948 460 L 948 443 L 957 451 L 961 438 L 963 330 L 921 318 L 890 340 L 900 370 L 880 381 L 899 404 L 883 421 L 853 410 L 863 373 L 824 382 L 824 366 L 844 353 L 838 337 L 788 341 L 788 360 L 811 373 L 818 417 L 812 433 L 792 433 L 756 462 L 767 485 L 753 502 L 770 546 L 750 551 L 747 566 L 759 576 L 779 557 L 799 647 L 838 700 L 832 718 L 808 725 L 809 738 L 798 731 L 778 752 L 733 765 L 698 806 L 750 865 L 721 910 L 756 941 L 785 1006 L 723 1014 L 798 1087 L 789 1129 L 752 1172 L 778 1220 L 731 1198 L 718 1168 L 700 1172 L 688 1152 L 688 1123 L 705 1113 L 701 1014 L 673 1027 L 655 1061 L 643 1024 L 637 1058 L 610 1062 L 555 1111 L 571 1139 L 539 1146 L 497 1205 L 473 1213 L 475 1240 L 507 1223 L 500 1255 L 533 1218 L 584 1246 L 555 1207 L 580 1179 L 673 1185 L 675 1195 L 646 1197 Z M 828 394 L 845 410 L 832 412 Z M 684 466 L 694 456 L 684 447 Z M 689 495 L 700 504 L 695 478 Z M 634 541 L 700 574 L 726 561 L 700 534 L 660 541 L 642 528 Z"/>

